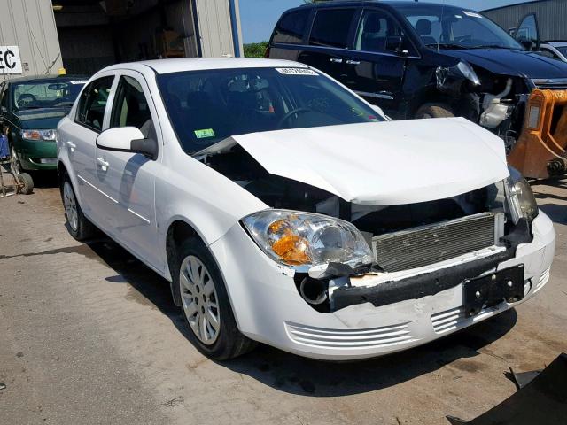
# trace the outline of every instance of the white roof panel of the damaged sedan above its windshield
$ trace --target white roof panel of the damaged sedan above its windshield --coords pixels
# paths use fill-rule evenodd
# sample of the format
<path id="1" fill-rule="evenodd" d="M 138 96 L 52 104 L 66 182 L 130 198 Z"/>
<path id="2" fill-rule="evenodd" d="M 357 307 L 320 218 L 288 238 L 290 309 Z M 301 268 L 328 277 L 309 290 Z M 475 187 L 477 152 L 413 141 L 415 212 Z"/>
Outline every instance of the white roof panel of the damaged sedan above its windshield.
<path id="1" fill-rule="evenodd" d="M 119 69 L 140 70 L 150 67 L 155 73 L 178 73 L 183 71 L 204 71 L 207 69 L 238 69 L 238 68 L 276 68 L 276 67 L 308 68 L 299 62 L 280 59 L 260 58 L 169 58 L 145 60 L 108 66 L 103 71 Z"/>

